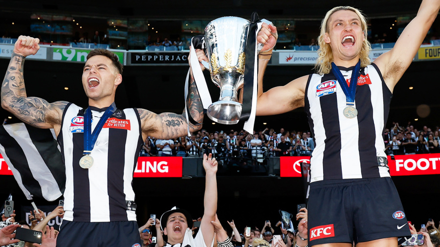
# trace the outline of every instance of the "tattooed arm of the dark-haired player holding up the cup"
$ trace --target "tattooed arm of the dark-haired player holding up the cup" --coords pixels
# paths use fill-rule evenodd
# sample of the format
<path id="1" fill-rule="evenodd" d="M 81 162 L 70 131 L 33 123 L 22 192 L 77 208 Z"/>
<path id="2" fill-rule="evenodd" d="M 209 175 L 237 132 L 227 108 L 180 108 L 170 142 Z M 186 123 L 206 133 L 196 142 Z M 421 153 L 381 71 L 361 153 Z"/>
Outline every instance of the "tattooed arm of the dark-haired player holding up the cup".
<path id="1" fill-rule="evenodd" d="M 190 96 L 186 103 L 193 119 L 198 123 L 201 123 L 203 121 L 203 106 L 192 73 Z M 144 109 L 138 109 L 138 111 L 144 137 L 153 136 L 159 139 L 174 139 L 188 134 L 188 124 L 185 111 L 180 115 L 171 112 L 155 114 L 154 112 Z M 190 123 L 189 129 L 190 132 L 195 132 L 201 129 L 201 125 L 193 125 Z"/>

